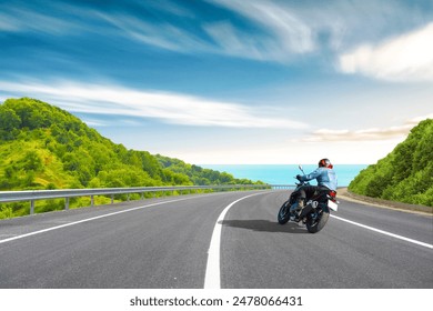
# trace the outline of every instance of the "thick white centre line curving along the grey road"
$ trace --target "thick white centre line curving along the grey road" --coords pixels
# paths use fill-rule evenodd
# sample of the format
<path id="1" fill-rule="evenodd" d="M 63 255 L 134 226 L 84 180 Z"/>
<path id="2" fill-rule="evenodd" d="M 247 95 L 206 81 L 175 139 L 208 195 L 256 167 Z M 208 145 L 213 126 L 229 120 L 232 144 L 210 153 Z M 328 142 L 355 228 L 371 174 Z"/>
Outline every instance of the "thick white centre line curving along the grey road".
<path id="1" fill-rule="evenodd" d="M 207 271 L 204 275 L 204 289 L 220 289 L 221 288 L 221 271 L 220 271 L 220 249 L 221 249 L 221 229 L 222 222 L 226 212 L 230 210 L 239 201 L 243 199 L 263 194 L 263 193 L 254 193 L 241 199 L 238 199 L 231 202 L 225 209 L 221 212 L 220 217 L 216 220 L 215 227 L 213 228 L 213 233 L 211 238 L 211 243 L 208 251 L 208 263 Z"/>

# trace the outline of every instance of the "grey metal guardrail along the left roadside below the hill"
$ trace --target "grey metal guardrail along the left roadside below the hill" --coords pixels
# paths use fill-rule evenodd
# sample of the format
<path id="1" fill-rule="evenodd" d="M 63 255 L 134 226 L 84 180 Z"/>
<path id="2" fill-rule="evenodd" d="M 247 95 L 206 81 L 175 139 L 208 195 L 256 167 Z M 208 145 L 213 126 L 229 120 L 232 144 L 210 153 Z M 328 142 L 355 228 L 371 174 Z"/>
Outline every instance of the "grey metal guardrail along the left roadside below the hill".
<path id="1" fill-rule="evenodd" d="M 197 191 L 197 190 L 260 190 L 260 189 L 290 189 L 292 185 L 284 184 L 224 184 L 224 185 L 175 185 L 175 187 L 139 187 L 139 188 L 101 188 L 101 189 L 66 189 L 66 190 L 27 190 L 27 191 L 0 191 L 0 203 L 30 201 L 30 214 L 34 213 L 34 202 L 37 200 L 50 200 L 64 198 L 64 209 L 69 209 L 69 199 L 77 197 L 90 197 L 90 205 L 94 205 L 94 195 L 111 195 L 111 203 L 114 202 L 115 194 L 141 193 L 144 199 L 147 192 L 168 192 L 171 191 Z"/>

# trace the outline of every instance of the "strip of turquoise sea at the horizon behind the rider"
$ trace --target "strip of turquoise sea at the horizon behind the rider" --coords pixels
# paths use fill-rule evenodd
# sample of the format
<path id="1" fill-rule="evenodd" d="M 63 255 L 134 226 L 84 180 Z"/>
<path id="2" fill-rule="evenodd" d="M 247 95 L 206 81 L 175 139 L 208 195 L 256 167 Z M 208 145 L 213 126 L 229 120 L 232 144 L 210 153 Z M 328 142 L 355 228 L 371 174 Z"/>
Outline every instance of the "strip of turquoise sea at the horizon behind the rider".
<path id="1" fill-rule="evenodd" d="M 294 184 L 296 174 L 302 174 L 299 164 L 199 164 L 202 168 L 228 172 L 236 179 L 261 180 L 269 184 Z M 339 187 L 349 183 L 369 164 L 335 164 Z M 318 164 L 305 164 L 302 169 L 308 174 L 314 171 Z M 315 184 L 314 181 L 311 184 Z"/>

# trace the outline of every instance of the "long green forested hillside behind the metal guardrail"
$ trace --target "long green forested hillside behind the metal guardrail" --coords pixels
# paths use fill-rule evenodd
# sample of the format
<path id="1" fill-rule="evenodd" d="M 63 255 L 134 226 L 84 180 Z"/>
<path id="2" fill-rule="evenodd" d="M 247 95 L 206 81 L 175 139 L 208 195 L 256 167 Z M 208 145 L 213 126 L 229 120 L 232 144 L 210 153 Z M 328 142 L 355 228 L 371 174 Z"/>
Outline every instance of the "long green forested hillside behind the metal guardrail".
<path id="1" fill-rule="evenodd" d="M 246 183 L 253 182 L 128 150 L 39 100 L 8 99 L 0 104 L 0 191 Z"/>

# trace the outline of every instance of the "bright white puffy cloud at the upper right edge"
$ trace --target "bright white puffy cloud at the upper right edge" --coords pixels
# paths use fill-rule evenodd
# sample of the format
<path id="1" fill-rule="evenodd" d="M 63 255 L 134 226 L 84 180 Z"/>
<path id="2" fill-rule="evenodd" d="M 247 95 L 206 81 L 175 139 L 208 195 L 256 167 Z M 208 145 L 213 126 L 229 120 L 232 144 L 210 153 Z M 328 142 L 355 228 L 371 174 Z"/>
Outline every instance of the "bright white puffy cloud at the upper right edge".
<path id="1" fill-rule="evenodd" d="M 340 57 L 345 73 L 390 81 L 433 81 L 433 22 L 377 46 L 364 44 Z"/>

